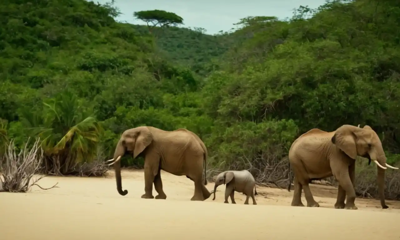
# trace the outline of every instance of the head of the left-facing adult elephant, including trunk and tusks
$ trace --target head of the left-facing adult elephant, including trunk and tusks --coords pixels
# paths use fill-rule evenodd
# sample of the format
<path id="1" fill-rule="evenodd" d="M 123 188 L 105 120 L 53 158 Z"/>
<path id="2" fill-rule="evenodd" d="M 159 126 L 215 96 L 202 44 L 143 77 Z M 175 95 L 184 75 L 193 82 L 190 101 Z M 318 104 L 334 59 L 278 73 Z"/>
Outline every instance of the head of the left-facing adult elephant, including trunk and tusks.
<path id="1" fill-rule="evenodd" d="M 153 141 L 153 135 L 146 126 L 131 128 L 125 130 L 120 140 L 117 143 L 117 146 L 114 151 L 114 158 L 108 160 L 114 162 L 108 164 L 114 164 L 115 170 L 115 178 L 117 182 L 117 190 L 118 193 L 122 196 L 128 194 L 128 190 L 122 191 L 122 181 L 121 181 L 121 164 L 120 159 L 124 156 L 125 152 L 131 152 L 133 154 L 133 158 L 136 158 L 143 150 L 151 144 Z"/>

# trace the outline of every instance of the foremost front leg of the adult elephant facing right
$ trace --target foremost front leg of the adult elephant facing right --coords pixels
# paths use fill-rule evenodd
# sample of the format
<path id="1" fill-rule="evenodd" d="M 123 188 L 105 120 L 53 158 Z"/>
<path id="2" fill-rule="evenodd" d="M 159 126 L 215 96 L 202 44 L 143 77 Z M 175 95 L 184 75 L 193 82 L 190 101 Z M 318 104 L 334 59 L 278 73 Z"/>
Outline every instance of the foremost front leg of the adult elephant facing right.
<path id="1" fill-rule="evenodd" d="M 352 178 L 350 178 L 349 168 L 347 166 L 342 166 L 342 168 L 334 172 L 334 176 L 338 180 L 340 186 L 342 186 L 344 191 L 346 191 L 347 199 L 346 204 L 344 205 L 345 209 L 358 209 L 354 204 L 354 200 L 356 200 L 356 191 L 354 190 L 353 186 L 354 174 L 355 173 L 352 173 L 352 181 Z"/>

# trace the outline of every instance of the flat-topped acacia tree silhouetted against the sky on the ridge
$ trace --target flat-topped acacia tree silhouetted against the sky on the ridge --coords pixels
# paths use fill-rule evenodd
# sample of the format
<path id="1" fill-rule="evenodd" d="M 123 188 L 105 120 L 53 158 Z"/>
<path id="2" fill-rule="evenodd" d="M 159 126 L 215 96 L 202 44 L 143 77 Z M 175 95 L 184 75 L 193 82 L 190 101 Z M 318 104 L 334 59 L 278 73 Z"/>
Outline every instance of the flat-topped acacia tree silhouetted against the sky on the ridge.
<path id="1" fill-rule="evenodd" d="M 156 26 L 177 26 L 183 24 L 183 18 L 174 14 L 173 12 L 166 12 L 164 10 L 147 10 L 134 12 L 133 16 L 136 19 L 146 22 L 149 32 L 152 32 Z M 152 24 L 152 25 L 150 25 Z"/>

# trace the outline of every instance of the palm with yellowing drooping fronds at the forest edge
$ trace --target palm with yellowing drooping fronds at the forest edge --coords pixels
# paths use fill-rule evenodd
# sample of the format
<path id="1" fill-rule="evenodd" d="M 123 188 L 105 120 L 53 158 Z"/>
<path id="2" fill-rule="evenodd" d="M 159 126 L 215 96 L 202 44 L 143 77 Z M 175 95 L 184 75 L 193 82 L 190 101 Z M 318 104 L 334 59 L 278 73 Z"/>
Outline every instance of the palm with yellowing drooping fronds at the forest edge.
<path id="1" fill-rule="evenodd" d="M 43 103 L 40 120 L 34 113 L 27 114 L 27 128 L 32 135 L 40 137 L 42 148 L 47 156 L 59 155 L 65 162 L 64 172 L 74 168 L 74 162 L 88 162 L 96 156 L 102 127 L 82 107 L 80 100 L 71 92 L 65 91 Z M 40 122 L 38 125 L 31 125 Z M 60 155 L 61 154 L 61 155 Z M 72 159 L 73 162 L 70 162 Z"/>

